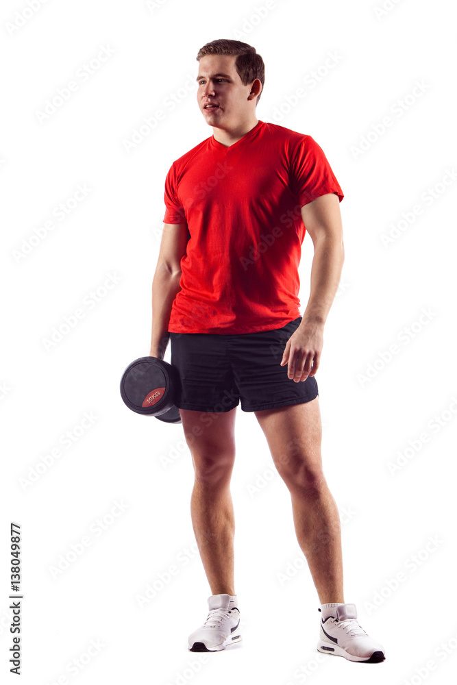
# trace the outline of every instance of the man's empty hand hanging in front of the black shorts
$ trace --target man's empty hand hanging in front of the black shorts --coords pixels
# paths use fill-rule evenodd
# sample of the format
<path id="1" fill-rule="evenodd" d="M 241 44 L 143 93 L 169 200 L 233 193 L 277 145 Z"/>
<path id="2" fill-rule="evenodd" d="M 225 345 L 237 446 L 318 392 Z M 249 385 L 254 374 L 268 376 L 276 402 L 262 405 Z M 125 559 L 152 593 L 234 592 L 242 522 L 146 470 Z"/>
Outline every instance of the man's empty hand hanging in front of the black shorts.
<path id="1" fill-rule="evenodd" d="M 323 348 L 323 324 L 300 323 L 286 343 L 281 366 L 288 363 L 287 375 L 295 383 L 314 376 Z"/>

